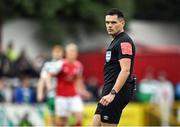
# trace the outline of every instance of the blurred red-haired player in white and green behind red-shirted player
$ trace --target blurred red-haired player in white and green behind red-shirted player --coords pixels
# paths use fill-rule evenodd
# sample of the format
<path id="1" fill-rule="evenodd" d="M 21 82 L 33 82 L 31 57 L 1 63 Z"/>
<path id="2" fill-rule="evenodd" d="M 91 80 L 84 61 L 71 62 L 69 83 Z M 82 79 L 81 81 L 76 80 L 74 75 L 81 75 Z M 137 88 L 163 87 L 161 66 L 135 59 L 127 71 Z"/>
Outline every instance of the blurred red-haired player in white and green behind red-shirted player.
<path id="1" fill-rule="evenodd" d="M 51 52 L 51 61 L 47 61 L 44 63 L 40 73 L 40 79 L 37 85 L 37 100 L 42 102 L 47 96 L 47 105 L 51 111 L 52 117 L 54 117 L 54 99 L 55 99 L 55 87 L 56 87 L 56 78 L 52 78 L 51 81 L 49 80 L 49 72 L 56 70 L 55 63 L 58 60 L 61 60 L 64 55 L 64 50 L 60 45 L 56 45 L 53 47 Z M 49 86 L 49 84 L 51 86 Z M 45 92 L 46 90 L 46 92 Z M 45 95 L 44 93 L 47 93 Z M 52 118 L 52 124 L 54 123 L 54 118 Z"/>

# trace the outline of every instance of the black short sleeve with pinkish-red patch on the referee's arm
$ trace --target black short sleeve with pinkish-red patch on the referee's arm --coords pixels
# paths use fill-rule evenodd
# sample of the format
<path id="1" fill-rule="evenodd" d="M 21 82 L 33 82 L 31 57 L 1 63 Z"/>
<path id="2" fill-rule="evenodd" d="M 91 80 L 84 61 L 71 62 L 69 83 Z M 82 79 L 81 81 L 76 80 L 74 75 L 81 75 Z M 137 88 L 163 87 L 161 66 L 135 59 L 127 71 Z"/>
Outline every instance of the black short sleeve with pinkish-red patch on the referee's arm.
<path id="1" fill-rule="evenodd" d="M 118 45 L 118 59 L 132 58 L 133 46 L 131 42 L 120 42 Z"/>

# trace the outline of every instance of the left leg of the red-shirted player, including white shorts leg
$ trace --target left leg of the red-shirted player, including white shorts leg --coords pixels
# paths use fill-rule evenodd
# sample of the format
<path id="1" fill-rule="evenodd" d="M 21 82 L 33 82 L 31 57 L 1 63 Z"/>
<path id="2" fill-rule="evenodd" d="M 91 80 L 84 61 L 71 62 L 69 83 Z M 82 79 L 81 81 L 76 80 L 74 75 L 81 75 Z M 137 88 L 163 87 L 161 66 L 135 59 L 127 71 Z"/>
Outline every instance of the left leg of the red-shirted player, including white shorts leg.
<path id="1" fill-rule="evenodd" d="M 68 122 L 68 100 L 66 97 L 57 96 L 55 99 L 55 125 L 66 126 Z"/>

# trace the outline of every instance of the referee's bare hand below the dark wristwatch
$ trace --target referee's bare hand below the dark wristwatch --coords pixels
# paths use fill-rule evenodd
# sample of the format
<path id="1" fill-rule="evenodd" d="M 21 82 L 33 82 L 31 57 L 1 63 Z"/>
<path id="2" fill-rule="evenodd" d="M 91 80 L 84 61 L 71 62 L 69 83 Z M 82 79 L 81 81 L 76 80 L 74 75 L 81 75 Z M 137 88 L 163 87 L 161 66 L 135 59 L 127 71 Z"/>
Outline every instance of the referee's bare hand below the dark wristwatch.
<path id="1" fill-rule="evenodd" d="M 108 95 L 102 97 L 99 103 L 101 103 L 103 106 L 108 106 L 114 100 L 114 97 L 114 94 L 109 93 Z"/>

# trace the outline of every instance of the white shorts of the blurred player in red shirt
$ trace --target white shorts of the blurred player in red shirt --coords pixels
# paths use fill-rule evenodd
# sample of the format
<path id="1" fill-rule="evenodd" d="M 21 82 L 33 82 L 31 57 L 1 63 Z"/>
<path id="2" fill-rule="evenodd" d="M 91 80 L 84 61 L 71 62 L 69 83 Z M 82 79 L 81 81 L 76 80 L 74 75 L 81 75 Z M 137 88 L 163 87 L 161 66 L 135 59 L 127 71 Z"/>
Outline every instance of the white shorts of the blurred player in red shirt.
<path id="1" fill-rule="evenodd" d="M 57 96 L 55 99 L 55 114 L 60 117 L 68 117 L 70 113 L 83 112 L 83 101 L 80 96 Z"/>

